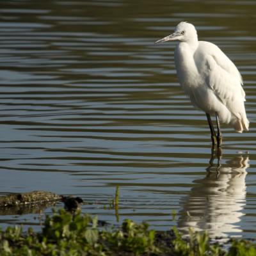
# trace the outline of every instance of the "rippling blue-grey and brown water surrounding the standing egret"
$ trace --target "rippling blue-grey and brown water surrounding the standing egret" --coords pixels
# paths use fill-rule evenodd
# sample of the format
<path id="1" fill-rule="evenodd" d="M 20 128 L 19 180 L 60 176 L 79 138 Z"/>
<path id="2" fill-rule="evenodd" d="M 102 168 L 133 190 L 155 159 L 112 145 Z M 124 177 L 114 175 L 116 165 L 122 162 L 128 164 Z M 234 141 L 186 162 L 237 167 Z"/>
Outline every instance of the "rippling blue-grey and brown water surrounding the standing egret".
<path id="1" fill-rule="evenodd" d="M 115 224 L 256 237 L 255 13 L 255 1 L 2 0 L 0 193 L 81 196 L 83 212 Z M 154 44 L 181 20 L 244 79 L 250 132 L 223 127 L 219 168 L 177 83 L 175 43 Z M 40 228 L 36 213 L 0 221 Z"/>

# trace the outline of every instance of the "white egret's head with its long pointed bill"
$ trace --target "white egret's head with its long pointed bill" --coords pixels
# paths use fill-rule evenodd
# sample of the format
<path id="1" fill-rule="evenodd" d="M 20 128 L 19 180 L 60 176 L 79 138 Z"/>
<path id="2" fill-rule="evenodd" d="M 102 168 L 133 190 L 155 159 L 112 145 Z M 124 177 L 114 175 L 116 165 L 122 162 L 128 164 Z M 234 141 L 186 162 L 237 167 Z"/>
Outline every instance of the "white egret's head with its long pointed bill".
<path id="1" fill-rule="evenodd" d="M 180 42 L 188 42 L 189 40 L 197 40 L 197 33 L 195 27 L 187 22 L 180 22 L 174 29 L 172 35 L 165 36 L 157 40 L 156 43 L 178 40 Z"/>

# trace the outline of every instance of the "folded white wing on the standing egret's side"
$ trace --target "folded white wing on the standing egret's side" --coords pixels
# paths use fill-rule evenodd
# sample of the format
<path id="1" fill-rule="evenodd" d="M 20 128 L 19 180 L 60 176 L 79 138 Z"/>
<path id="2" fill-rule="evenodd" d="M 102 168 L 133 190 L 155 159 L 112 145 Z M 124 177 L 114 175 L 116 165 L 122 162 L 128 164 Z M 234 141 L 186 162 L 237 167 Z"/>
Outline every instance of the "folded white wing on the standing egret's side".
<path id="1" fill-rule="evenodd" d="M 243 81 L 239 71 L 216 45 L 200 42 L 200 49 L 202 50 L 198 54 L 204 54 L 204 58 L 201 55 L 201 60 L 204 61 L 200 72 L 204 73 L 205 83 L 229 111 L 241 119 L 244 114 L 245 93 L 241 86 Z"/>

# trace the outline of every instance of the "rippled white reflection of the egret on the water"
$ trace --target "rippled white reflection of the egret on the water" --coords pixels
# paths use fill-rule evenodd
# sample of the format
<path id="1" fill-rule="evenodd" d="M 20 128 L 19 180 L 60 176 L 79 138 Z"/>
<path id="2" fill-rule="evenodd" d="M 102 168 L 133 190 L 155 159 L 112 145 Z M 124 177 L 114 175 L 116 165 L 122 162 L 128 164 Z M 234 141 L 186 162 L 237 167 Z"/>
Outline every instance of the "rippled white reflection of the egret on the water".
<path id="1" fill-rule="evenodd" d="M 196 184 L 184 199 L 178 221 L 181 231 L 207 230 L 209 236 L 240 236 L 239 225 L 246 201 L 246 168 L 248 156 L 236 156 L 225 164 L 213 164 L 211 157 L 207 174 L 203 179 L 194 180 Z"/>

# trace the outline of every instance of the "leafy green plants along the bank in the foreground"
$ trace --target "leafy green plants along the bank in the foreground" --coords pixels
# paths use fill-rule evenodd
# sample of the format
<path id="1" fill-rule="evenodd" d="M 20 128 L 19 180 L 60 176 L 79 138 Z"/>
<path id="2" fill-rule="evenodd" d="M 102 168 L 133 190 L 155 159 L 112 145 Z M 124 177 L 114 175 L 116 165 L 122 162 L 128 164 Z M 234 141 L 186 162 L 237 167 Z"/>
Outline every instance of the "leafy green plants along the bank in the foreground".
<path id="1" fill-rule="evenodd" d="M 32 228 L 8 227 L 0 231 L 0 255 L 256 255 L 256 246 L 248 241 L 231 241 L 228 252 L 220 244 L 211 244 L 207 234 L 190 232 L 183 239 L 179 232 L 155 232 L 147 223 L 124 220 L 116 230 L 97 228 L 97 218 L 80 211 L 72 216 L 60 209 L 47 216 L 41 233 Z"/>

